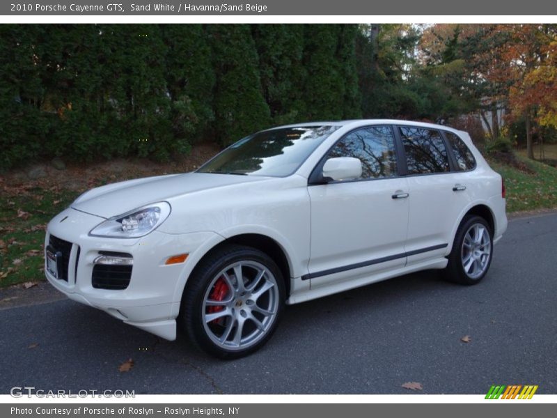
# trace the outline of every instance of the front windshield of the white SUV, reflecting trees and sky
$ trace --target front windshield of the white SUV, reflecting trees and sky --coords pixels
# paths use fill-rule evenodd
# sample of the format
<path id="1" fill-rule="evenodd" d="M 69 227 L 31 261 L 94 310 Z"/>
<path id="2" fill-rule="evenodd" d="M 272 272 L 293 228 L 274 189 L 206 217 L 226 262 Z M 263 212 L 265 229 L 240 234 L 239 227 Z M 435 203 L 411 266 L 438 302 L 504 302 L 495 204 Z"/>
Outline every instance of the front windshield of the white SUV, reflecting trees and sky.
<path id="1" fill-rule="evenodd" d="M 338 126 L 281 127 L 240 139 L 198 173 L 285 177 L 294 173 Z"/>

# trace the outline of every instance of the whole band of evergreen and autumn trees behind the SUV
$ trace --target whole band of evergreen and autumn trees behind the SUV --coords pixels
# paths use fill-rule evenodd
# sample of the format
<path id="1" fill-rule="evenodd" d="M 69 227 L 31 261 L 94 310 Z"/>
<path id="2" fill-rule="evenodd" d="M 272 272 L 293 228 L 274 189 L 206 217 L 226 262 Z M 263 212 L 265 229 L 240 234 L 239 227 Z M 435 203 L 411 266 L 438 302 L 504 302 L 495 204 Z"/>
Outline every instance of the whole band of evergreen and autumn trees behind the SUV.
<path id="1" fill-rule="evenodd" d="M 477 141 L 487 130 L 530 150 L 556 138 L 556 34 L 547 24 L 1 25 L 0 169 L 54 156 L 164 161 L 199 141 L 361 117 L 470 127 Z M 498 108 L 512 130 L 489 116 Z"/>

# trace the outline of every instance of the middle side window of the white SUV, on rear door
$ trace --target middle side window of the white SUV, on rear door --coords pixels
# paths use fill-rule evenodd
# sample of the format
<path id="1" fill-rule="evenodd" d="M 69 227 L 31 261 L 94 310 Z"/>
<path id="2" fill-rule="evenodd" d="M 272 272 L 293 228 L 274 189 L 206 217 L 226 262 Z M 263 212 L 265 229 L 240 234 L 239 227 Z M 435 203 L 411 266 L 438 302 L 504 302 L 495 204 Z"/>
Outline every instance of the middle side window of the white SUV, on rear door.
<path id="1" fill-rule="evenodd" d="M 444 173 L 450 171 L 447 149 L 437 130 L 423 127 L 400 127 L 409 174 Z"/>

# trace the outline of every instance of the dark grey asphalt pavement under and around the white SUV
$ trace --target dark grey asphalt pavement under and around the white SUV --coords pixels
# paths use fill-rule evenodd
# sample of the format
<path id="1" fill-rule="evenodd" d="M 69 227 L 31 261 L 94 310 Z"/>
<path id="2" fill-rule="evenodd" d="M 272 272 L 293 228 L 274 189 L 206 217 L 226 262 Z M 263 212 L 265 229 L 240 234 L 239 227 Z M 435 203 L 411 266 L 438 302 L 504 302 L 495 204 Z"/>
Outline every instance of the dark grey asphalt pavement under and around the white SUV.
<path id="1" fill-rule="evenodd" d="M 265 348 L 228 362 L 70 300 L 6 306 L 0 393 L 405 394 L 414 381 L 424 394 L 494 384 L 557 394 L 556 237 L 555 213 L 514 219 L 478 286 L 427 271 L 288 307 Z M 131 371 L 118 371 L 130 358 Z"/>

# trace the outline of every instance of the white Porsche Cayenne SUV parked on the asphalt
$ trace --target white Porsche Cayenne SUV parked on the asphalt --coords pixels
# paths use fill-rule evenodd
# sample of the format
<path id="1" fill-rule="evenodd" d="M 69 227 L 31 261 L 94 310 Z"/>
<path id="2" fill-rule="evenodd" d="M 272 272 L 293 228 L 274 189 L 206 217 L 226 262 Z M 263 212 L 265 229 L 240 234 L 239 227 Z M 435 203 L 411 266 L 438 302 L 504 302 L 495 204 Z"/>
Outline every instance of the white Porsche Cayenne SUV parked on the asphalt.
<path id="1" fill-rule="evenodd" d="M 505 188 L 466 132 L 304 123 L 193 173 L 97 187 L 48 225 L 47 279 L 165 339 L 240 357 L 295 304 L 424 269 L 476 284 L 507 228 Z"/>

